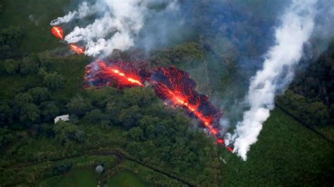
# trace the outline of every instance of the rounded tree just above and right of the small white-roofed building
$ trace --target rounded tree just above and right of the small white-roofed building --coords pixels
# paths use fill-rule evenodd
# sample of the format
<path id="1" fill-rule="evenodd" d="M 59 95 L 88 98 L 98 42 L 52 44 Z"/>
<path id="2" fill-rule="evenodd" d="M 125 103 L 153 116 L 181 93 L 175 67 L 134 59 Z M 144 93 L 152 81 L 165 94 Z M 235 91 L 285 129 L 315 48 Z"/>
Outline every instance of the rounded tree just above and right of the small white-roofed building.
<path id="1" fill-rule="evenodd" d="M 68 112 L 75 115 L 85 115 L 85 113 L 92 110 L 93 107 L 89 99 L 82 98 L 82 96 L 75 96 L 67 103 L 67 108 Z"/>

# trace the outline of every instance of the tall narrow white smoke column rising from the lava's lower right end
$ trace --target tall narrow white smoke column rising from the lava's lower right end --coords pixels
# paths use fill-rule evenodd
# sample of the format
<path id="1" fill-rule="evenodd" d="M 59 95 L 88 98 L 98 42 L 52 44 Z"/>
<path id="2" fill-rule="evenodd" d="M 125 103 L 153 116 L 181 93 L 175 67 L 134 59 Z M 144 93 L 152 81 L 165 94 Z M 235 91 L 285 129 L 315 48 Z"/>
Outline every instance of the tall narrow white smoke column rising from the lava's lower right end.
<path id="1" fill-rule="evenodd" d="M 316 0 L 294 0 L 276 28 L 276 44 L 265 55 L 264 65 L 252 77 L 247 93 L 249 110 L 244 112 L 242 122 L 237 123 L 233 136 L 234 151 L 247 160 L 247 151 L 257 141 L 262 124 L 273 110 L 278 91 L 292 81 L 293 67 L 302 58 L 303 46 L 314 29 L 314 6 Z"/>

